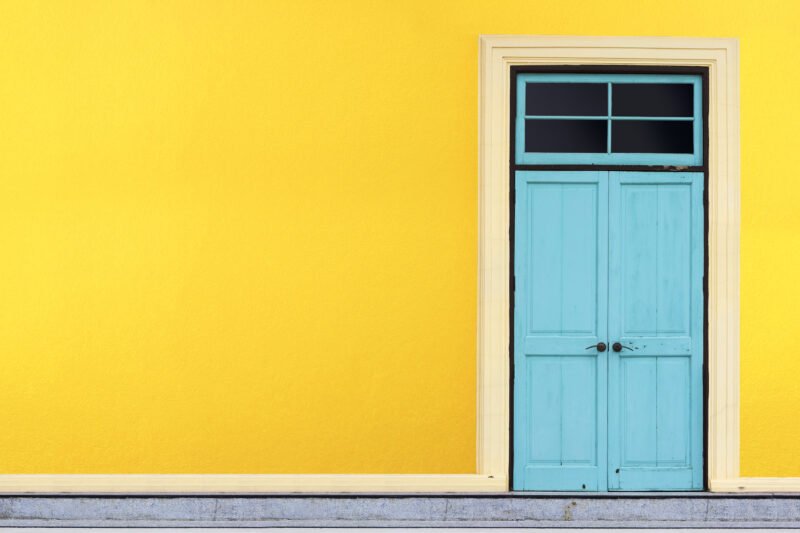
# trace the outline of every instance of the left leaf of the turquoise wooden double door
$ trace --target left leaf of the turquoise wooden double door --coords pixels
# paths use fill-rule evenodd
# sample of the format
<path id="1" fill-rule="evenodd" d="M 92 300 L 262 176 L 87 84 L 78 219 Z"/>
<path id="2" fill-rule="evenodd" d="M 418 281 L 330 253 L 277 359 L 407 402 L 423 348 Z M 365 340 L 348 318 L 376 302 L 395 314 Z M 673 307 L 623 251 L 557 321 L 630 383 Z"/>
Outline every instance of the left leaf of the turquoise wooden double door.
<path id="1" fill-rule="evenodd" d="M 606 172 L 517 172 L 514 488 L 606 490 Z"/>

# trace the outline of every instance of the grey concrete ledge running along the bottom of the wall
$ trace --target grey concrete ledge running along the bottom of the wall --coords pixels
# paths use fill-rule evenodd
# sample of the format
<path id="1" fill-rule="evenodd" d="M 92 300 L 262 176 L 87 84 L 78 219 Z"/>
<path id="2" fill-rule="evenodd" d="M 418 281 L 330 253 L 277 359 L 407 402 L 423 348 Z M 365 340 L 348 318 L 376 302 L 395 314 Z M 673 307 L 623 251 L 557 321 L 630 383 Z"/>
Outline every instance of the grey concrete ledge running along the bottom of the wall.
<path id="1" fill-rule="evenodd" d="M 0 526 L 785 528 L 800 496 L 0 496 Z"/>

